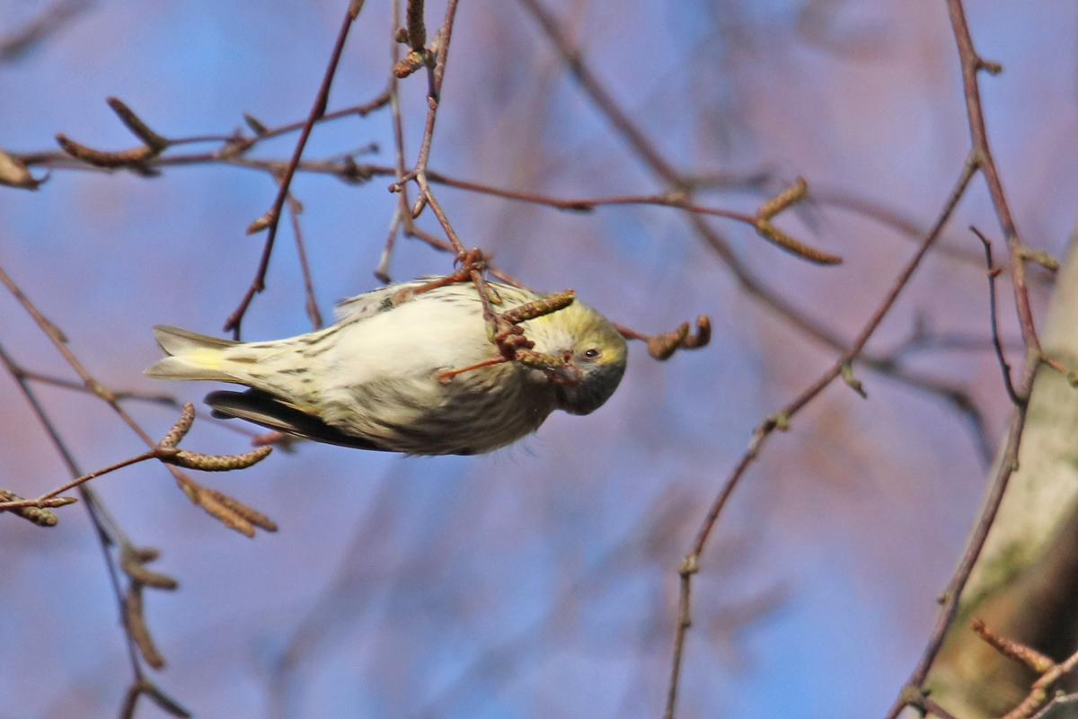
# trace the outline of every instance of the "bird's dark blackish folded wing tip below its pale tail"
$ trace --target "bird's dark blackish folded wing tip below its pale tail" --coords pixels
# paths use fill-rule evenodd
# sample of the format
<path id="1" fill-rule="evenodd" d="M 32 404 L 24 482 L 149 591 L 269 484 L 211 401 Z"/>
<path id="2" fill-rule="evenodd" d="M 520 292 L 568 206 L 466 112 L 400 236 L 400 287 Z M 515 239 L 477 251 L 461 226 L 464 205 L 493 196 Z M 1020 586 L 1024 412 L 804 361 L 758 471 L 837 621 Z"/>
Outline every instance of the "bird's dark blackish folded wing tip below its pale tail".
<path id="1" fill-rule="evenodd" d="M 249 389 L 246 392 L 216 391 L 206 396 L 206 404 L 213 409 L 213 416 L 229 419 L 238 417 L 262 425 L 278 432 L 292 434 L 315 442 L 338 444 L 359 450 L 389 452 L 370 440 L 349 437 L 318 417 L 286 404 L 268 392 Z"/>

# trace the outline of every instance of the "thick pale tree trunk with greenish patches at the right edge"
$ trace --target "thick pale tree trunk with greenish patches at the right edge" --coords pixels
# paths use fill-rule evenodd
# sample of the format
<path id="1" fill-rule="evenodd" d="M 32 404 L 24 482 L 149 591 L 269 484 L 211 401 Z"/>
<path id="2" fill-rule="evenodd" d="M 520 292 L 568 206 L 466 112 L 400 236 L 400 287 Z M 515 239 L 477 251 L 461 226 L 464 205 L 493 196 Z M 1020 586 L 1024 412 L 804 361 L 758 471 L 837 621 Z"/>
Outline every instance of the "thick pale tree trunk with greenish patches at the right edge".
<path id="1" fill-rule="evenodd" d="M 1078 225 L 1058 272 L 1040 338 L 1049 357 L 1078 371 Z M 1020 358 L 1011 359 L 1019 363 Z M 980 618 L 1056 661 L 1074 650 L 1076 508 L 1078 389 L 1042 365 L 1029 398 L 1018 471 L 926 682 L 935 701 L 959 719 L 1004 716 L 1029 693 L 1036 678 L 982 641 L 970 630 L 971 619 Z"/>

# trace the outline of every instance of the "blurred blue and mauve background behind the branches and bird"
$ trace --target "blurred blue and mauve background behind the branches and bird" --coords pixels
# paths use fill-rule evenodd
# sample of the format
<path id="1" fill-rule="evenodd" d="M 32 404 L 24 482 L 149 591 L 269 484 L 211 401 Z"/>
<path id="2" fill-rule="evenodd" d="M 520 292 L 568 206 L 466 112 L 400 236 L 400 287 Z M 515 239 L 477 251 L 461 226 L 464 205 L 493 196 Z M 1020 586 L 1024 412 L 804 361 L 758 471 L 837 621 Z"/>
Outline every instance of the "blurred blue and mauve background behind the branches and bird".
<path id="1" fill-rule="evenodd" d="M 40 41 L 11 42 L 50 8 L 0 1 L 8 152 L 54 150 L 56 133 L 100 149 L 137 144 L 108 96 L 168 137 L 229 134 L 244 112 L 267 125 L 302 120 L 345 3 L 86 0 L 64 5 L 70 16 Z M 443 10 L 428 8 L 430 34 Z M 770 291 L 851 341 L 914 250 L 895 225 L 930 225 L 969 149 L 944 4 L 571 0 L 551 10 L 666 161 L 715 179 L 702 204 L 754 212 L 797 176 L 808 180 L 815 202 L 778 224 L 843 255 L 839 267 L 706 222 Z M 1078 204 L 1078 5 L 982 0 L 967 14 L 978 51 L 1005 68 L 982 78 L 982 93 L 1017 222 L 1028 245 L 1058 257 Z M 388 3 L 370 0 L 330 110 L 384 88 L 390 30 Z M 666 190 L 523 5 L 461 3 L 451 47 L 431 169 L 557 197 Z M 401 84 L 409 163 L 425 92 L 421 74 Z M 252 154 L 287 157 L 294 141 Z M 387 110 L 318 126 L 305 156 L 372 142 L 377 153 L 362 160 L 391 165 Z M 388 182 L 300 174 L 292 185 L 323 315 L 378 285 L 395 209 Z M 54 170 L 37 192 L 0 189 L 0 265 L 106 385 L 201 403 L 206 383 L 141 375 L 158 357 L 150 327 L 223 334 L 262 251 L 263 236 L 244 230 L 275 192 L 266 174 L 223 165 L 150 179 Z M 149 593 L 146 612 L 168 662 L 155 680 L 195 716 L 658 716 L 680 558 L 752 428 L 837 356 L 743 292 L 678 210 L 579 213 L 436 192 L 465 245 L 492 251 L 529 286 L 575 288 L 647 333 L 706 314 L 711 345 L 660 363 L 636 343 L 599 412 L 558 413 L 489 456 L 302 444 L 206 476 L 279 525 L 254 539 L 193 507 L 160 466 L 95 481 L 133 541 L 161 549 L 154 568 L 180 582 Z M 874 217 L 851 211 L 858 203 Z M 695 579 L 679 717 L 882 716 L 897 695 L 1008 409 L 970 223 L 998 237 L 980 179 L 869 350 L 900 374 L 965 392 L 982 425 L 939 391 L 859 368 L 868 401 L 835 384 L 773 438 Z M 419 225 L 437 231 L 429 212 Z M 402 239 L 390 275 L 450 266 Z M 1050 278 L 1033 272 L 1041 309 Z M 1018 362 L 1009 290 L 1001 284 L 1001 331 Z M 285 222 L 244 334 L 309 329 Z M 0 343 L 27 369 L 72 376 L 8 294 Z M 85 471 L 142 451 L 99 400 L 39 390 Z M 154 435 L 177 417 L 127 406 Z M 248 440 L 196 420 L 184 446 L 237 453 Z M 17 386 L 0 378 L 0 486 L 33 497 L 66 480 Z M 115 716 L 129 681 L 92 526 L 79 506 L 58 515 L 51 529 L 0 516 L 2 719 Z M 139 716 L 164 715 L 144 702 Z"/>

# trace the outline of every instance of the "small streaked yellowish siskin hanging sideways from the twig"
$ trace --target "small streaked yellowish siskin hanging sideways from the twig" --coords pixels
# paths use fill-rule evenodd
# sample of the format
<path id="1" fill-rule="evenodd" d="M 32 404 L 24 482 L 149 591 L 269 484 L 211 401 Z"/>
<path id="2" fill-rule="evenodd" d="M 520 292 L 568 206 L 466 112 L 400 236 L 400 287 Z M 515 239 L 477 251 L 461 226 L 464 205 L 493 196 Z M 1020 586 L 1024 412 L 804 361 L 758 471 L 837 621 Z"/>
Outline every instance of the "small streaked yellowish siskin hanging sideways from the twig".
<path id="1" fill-rule="evenodd" d="M 287 434 L 410 455 L 492 452 L 536 431 L 554 410 L 590 414 L 625 372 L 625 340 L 581 302 L 520 322 L 554 365 L 498 362 L 471 284 L 415 292 L 429 280 L 384 287 L 337 305 L 332 327 L 275 342 L 232 342 L 154 328 L 166 357 L 155 379 L 215 379 L 219 417 Z M 490 282 L 499 312 L 544 296 Z M 533 352 L 533 355 L 534 355 Z M 473 367 L 479 365 L 479 367 Z M 461 371 L 462 370 L 462 371 Z"/>

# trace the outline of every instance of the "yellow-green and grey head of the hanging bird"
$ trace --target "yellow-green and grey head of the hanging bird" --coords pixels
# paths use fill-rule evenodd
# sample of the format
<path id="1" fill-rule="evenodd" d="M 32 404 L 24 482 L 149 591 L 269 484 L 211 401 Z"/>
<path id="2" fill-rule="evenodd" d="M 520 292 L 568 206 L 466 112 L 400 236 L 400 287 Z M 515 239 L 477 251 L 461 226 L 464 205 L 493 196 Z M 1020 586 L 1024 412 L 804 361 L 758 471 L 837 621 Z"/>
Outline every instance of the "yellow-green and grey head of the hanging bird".
<path id="1" fill-rule="evenodd" d="M 625 373 L 625 338 L 603 315 L 577 300 L 568 307 L 525 322 L 536 350 L 565 360 L 549 375 L 557 406 L 584 415 L 610 399 Z"/>

